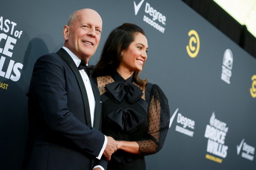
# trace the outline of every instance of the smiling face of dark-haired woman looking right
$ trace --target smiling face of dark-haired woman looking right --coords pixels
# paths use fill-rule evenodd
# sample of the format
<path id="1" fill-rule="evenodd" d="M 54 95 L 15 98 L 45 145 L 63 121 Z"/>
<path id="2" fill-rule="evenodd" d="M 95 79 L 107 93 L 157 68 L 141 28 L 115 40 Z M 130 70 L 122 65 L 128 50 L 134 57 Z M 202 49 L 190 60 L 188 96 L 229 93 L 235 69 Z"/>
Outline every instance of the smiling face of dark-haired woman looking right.
<path id="1" fill-rule="evenodd" d="M 128 49 L 122 51 L 122 61 L 119 67 L 126 68 L 130 72 L 141 71 L 147 59 L 147 49 L 147 38 L 140 32 L 135 34 L 134 41 Z"/>

